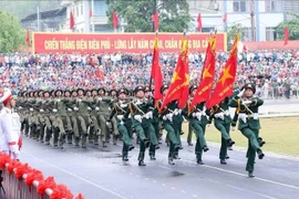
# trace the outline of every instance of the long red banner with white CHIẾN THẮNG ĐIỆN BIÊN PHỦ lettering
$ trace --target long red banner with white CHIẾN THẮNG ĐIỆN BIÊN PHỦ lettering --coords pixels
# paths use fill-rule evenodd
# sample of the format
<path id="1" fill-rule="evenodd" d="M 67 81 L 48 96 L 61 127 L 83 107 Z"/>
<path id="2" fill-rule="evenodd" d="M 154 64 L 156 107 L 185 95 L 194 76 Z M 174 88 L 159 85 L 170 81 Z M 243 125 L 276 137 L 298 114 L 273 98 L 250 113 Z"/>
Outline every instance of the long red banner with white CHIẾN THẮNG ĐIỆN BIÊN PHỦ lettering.
<path id="1" fill-rule="evenodd" d="M 159 33 L 159 51 L 177 52 L 182 33 Z M 38 33 L 33 32 L 33 53 L 152 52 L 155 33 Z M 190 33 L 190 52 L 205 52 L 209 33 Z M 226 33 L 217 33 L 217 51 L 226 51 Z"/>

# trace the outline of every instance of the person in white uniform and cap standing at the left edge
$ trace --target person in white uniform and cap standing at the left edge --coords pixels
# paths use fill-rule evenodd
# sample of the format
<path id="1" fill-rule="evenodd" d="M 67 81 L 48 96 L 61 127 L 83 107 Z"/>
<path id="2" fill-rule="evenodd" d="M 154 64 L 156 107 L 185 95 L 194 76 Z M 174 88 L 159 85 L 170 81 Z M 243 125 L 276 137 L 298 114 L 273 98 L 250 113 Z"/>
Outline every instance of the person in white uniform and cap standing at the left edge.
<path id="1" fill-rule="evenodd" d="M 4 88 L 0 91 L 0 103 L 3 107 L 0 112 L 0 150 L 9 155 L 12 159 L 20 159 L 20 116 L 13 113 L 16 106 L 16 100 L 11 94 L 11 91 Z"/>

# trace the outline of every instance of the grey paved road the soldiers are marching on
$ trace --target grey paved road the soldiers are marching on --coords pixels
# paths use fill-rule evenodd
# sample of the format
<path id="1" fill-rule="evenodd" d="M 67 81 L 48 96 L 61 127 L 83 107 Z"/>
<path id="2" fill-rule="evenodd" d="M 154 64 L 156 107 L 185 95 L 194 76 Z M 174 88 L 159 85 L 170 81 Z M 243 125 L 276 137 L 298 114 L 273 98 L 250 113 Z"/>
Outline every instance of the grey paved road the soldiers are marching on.
<path id="1" fill-rule="evenodd" d="M 299 103 L 281 103 L 281 106 L 290 109 L 299 107 Z M 210 145 L 210 150 L 204 154 L 204 166 L 195 163 L 194 147 L 189 146 L 184 146 L 182 159 L 169 166 L 168 148 L 163 144 L 157 160 L 146 156 L 146 167 L 137 166 L 136 148 L 130 154 L 130 161 L 123 164 L 121 143 L 105 149 L 92 145 L 87 149 L 65 146 L 60 150 L 24 138 L 21 160 L 41 169 L 47 177 L 54 176 L 58 184 L 68 185 L 74 195 L 82 192 L 86 199 L 293 199 L 299 196 L 299 160 L 267 153 L 265 159 L 256 160 L 256 178 L 250 179 L 245 171 L 245 151 L 229 151 L 228 165 L 220 165 L 217 145 Z"/>

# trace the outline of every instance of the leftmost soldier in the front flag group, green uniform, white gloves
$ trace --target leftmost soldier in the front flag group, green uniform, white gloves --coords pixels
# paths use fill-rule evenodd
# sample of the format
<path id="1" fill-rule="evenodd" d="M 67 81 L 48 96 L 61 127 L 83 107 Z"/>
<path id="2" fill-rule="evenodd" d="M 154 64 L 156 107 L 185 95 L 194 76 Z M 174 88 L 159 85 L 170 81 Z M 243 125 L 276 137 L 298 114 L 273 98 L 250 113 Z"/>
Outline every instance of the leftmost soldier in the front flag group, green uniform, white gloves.
<path id="1" fill-rule="evenodd" d="M 128 111 L 128 102 L 126 101 L 127 94 L 128 91 L 126 88 L 121 88 L 117 92 L 118 101 L 113 103 L 113 108 L 107 121 L 111 122 L 112 118 L 116 116 L 117 128 L 123 137 L 123 150 L 122 150 L 123 161 L 128 161 L 128 151 L 134 149 L 131 139 L 132 121 L 131 118 L 123 119 L 124 114 Z"/>

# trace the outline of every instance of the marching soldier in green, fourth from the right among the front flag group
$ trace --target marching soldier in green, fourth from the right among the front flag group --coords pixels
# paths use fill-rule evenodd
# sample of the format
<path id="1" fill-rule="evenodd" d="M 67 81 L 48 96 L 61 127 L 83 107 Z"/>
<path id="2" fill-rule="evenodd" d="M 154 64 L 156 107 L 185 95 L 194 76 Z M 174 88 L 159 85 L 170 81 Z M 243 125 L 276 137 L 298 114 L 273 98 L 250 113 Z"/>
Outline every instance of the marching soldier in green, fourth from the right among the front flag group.
<path id="1" fill-rule="evenodd" d="M 159 92 L 165 97 L 168 92 L 168 85 L 166 84 L 162 85 Z M 177 105 L 176 105 L 176 102 L 173 101 L 166 104 L 166 106 L 163 109 L 161 109 L 162 104 L 163 104 L 163 101 L 158 101 L 158 107 L 156 109 L 159 112 L 159 118 L 162 119 L 163 127 L 167 132 L 167 136 L 169 138 L 168 164 L 175 165 L 174 158 L 175 158 L 176 151 L 178 151 L 178 149 L 181 148 L 181 143 L 176 135 L 176 130 L 173 124 L 174 109 L 177 107 Z"/>

